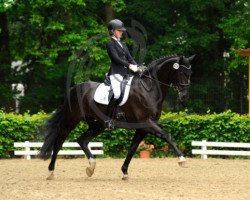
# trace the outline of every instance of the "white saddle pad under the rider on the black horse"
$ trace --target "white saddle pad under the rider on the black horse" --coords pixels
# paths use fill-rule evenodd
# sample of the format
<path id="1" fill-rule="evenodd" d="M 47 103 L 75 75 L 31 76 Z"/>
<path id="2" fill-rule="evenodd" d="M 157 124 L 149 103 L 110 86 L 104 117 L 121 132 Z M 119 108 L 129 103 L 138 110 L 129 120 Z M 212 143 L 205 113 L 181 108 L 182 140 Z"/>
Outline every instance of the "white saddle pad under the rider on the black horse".
<path id="1" fill-rule="evenodd" d="M 129 91 L 130 91 L 130 87 L 131 87 L 131 82 L 132 82 L 133 78 L 134 77 L 131 76 L 129 78 L 129 80 L 128 80 L 128 83 L 127 83 L 127 85 L 125 87 L 125 92 L 124 92 L 123 99 L 122 99 L 121 103 L 119 104 L 120 106 L 124 105 L 127 102 L 127 100 L 128 100 L 128 95 L 129 95 Z M 108 105 L 109 104 L 108 97 L 109 97 L 110 90 L 111 90 L 111 86 L 107 86 L 104 83 L 101 83 L 96 88 L 95 95 L 94 95 L 94 100 L 97 103 Z"/>

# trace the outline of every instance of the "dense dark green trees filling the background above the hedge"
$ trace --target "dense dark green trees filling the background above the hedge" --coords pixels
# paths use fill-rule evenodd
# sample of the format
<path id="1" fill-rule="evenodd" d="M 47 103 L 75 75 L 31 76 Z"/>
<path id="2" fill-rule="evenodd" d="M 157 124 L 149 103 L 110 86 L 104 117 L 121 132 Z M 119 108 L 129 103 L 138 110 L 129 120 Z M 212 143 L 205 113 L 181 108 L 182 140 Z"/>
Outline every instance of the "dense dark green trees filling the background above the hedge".
<path id="1" fill-rule="evenodd" d="M 250 47 L 249 15 L 248 0 L 1 0 L 0 107 L 14 110 L 11 83 L 25 86 L 21 113 L 36 113 L 57 107 L 66 82 L 102 81 L 110 63 L 106 25 L 119 18 L 128 28 L 134 20 L 146 31 L 134 27 L 146 39 L 142 60 L 137 41 L 125 39 L 138 62 L 197 55 L 189 110 L 246 113 L 247 60 L 238 49 Z M 10 68 L 14 61 L 22 67 Z M 175 93 L 167 98 L 164 110 L 175 111 Z"/>

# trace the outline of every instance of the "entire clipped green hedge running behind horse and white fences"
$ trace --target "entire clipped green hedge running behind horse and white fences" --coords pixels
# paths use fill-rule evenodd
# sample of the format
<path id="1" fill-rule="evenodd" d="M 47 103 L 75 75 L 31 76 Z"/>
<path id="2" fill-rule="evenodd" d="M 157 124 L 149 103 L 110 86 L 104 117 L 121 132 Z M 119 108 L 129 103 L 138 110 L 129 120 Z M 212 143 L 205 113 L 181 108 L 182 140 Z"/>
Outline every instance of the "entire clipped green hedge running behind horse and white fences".
<path id="1" fill-rule="evenodd" d="M 13 157 L 13 143 L 22 141 L 42 141 L 39 129 L 48 115 L 38 113 L 17 115 L 0 111 L 0 158 Z M 191 156 L 191 141 L 250 142 L 250 117 L 230 111 L 220 114 L 188 115 L 187 113 L 163 113 L 160 126 L 169 134 L 185 155 Z M 86 130 L 84 123 L 70 134 L 68 141 L 76 141 Z M 134 131 L 116 129 L 104 131 L 95 141 L 104 143 L 106 156 L 124 157 L 127 153 Z M 168 145 L 152 135 L 145 141 L 155 145 L 153 156 L 172 155 Z"/>

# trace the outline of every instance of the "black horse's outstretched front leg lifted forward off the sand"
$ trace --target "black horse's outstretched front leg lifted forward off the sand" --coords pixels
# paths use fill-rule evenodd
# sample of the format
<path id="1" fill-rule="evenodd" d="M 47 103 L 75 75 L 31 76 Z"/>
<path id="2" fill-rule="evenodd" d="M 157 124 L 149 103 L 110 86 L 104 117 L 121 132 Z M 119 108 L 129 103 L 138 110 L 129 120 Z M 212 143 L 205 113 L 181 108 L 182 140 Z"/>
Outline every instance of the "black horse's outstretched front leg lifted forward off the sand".
<path id="1" fill-rule="evenodd" d="M 178 164 L 180 167 L 185 167 L 186 159 L 184 158 L 182 152 L 178 149 L 176 144 L 173 142 L 171 136 L 166 133 L 162 128 L 160 128 L 156 122 L 151 121 L 150 122 L 151 126 L 149 128 L 145 128 L 145 131 L 148 133 L 151 133 L 155 135 L 158 138 L 163 139 L 166 141 L 174 150 L 175 154 L 179 157 Z"/>

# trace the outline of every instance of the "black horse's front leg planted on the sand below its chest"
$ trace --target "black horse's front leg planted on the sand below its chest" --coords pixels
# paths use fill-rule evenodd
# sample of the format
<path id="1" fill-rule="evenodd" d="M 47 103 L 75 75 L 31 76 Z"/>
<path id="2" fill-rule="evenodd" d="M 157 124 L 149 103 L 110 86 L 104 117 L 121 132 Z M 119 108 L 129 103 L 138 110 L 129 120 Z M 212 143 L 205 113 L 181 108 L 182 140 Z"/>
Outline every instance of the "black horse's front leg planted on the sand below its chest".
<path id="1" fill-rule="evenodd" d="M 131 145 L 129 147 L 127 157 L 126 157 L 126 159 L 125 159 L 125 161 L 124 161 L 124 163 L 122 165 L 122 172 L 123 172 L 122 180 L 127 180 L 128 179 L 128 166 L 129 166 L 129 163 L 130 163 L 133 155 L 135 154 L 138 145 L 143 140 L 145 135 L 146 135 L 146 133 L 143 132 L 142 130 L 140 130 L 140 129 L 136 130 L 135 135 L 134 135 L 133 140 L 132 140 L 132 143 L 131 143 Z"/>

